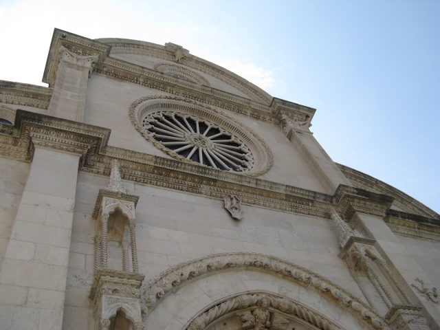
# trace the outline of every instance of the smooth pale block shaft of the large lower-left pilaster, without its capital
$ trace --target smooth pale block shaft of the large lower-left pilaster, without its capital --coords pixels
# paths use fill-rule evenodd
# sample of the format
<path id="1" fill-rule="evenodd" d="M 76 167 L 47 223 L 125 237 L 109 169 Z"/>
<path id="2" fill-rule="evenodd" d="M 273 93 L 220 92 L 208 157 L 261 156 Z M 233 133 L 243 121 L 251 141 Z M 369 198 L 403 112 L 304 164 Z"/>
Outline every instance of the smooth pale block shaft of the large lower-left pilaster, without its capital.
<path id="1" fill-rule="evenodd" d="M 79 158 L 35 143 L 0 271 L 2 329 L 61 329 Z"/>

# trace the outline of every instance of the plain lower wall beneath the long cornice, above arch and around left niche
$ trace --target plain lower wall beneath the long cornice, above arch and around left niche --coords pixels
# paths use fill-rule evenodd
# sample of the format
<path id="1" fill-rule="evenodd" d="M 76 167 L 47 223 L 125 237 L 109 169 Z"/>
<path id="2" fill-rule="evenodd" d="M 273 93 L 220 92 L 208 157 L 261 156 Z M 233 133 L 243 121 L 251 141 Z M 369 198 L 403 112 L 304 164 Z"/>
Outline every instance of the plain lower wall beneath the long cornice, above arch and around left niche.
<path id="1" fill-rule="evenodd" d="M 94 272 L 96 220 L 91 219 L 91 214 L 98 190 L 107 186 L 108 180 L 83 172 L 78 175 L 65 329 L 89 329 L 93 324 L 88 295 Z M 244 218 L 236 221 L 223 207 L 223 200 L 128 181 L 124 181 L 124 186 L 140 196 L 136 208 L 136 242 L 139 268 L 146 275 L 145 281 L 178 263 L 209 254 L 256 252 L 305 267 L 363 300 L 347 266 L 338 257 L 338 233 L 329 219 L 245 205 Z M 121 260 L 117 249 L 112 252 L 109 248 L 109 266 L 117 268 L 116 262 Z"/>

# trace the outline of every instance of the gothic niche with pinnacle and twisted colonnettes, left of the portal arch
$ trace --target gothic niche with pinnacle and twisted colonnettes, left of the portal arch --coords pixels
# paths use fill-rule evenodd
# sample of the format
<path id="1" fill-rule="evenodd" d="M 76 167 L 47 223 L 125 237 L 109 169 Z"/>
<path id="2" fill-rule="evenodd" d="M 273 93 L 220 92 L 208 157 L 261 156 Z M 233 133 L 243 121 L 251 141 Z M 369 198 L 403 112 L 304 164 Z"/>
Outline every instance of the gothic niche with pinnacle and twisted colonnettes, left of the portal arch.
<path id="1" fill-rule="evenodd" d="M 139 197 L 129 195 L 120 175 L 120 164 L 111 162 L 109 186 L 100 189 L 94 218 L 95 276 L 90 298 L 96 329 L 142 330 L 140 286 L 135 241 L 135 206 Z"/>

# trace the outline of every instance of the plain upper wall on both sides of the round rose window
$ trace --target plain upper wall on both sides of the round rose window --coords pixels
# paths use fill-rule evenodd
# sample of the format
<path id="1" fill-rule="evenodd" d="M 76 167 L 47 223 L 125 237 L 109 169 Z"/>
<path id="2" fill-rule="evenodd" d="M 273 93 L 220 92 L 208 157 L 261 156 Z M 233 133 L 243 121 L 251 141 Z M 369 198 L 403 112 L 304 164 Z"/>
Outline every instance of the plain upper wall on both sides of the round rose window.
<path id="1" fill-rule="evenodd" d="M 92 76 L 88 84 L 85 123 L 111 129 L 109 146 L 170 157 L 146 141 L 136 131 L 129 118 L 129 108 L 135 100 L 144 96 L 166 94 L 98 75 Z M 219 111 L 248 126 L 269 146 L 274 155 L 274 165 L 261 176 L 261 179 L 317 192 L 333 193 L 323 186 L 319 176 L 313 172 L 309 159 L 300 152 L 298 146 L 287 140 L 277 126 L 232 111 L 224 109 Z"/>

